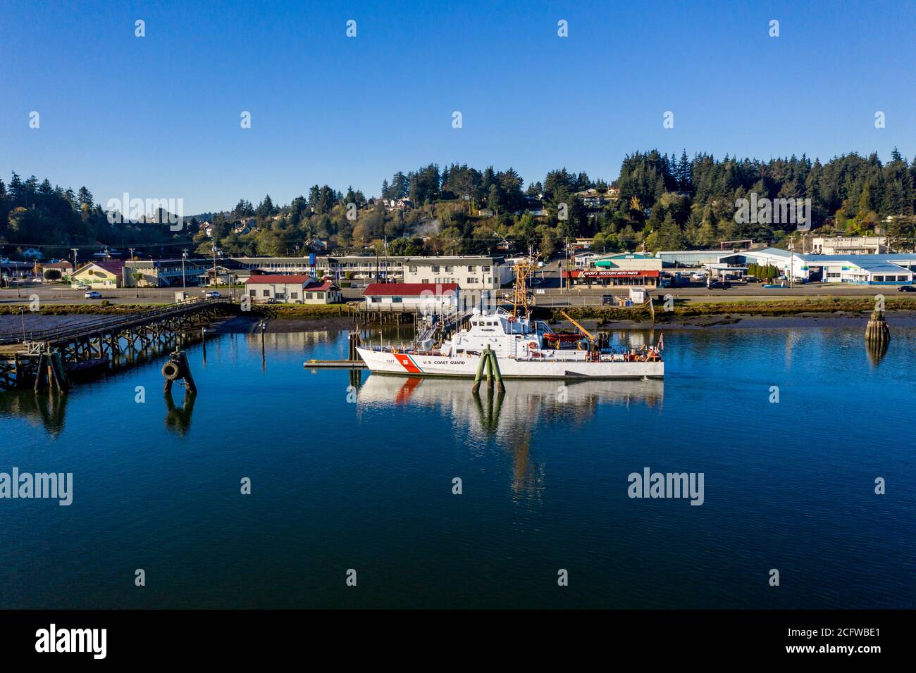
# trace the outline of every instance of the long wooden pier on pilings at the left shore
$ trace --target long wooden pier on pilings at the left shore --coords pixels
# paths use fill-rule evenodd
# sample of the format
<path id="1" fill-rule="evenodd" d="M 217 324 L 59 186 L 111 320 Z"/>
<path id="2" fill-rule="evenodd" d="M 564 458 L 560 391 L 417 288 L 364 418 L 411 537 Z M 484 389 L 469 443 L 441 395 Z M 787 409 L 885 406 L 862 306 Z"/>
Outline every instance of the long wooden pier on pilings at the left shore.
<path id="1" fill-rule="evenodd" d="M 75 322 L 48 330 L 0 334 L 0 388 L 45 386 L 66 390 L 66 370 L 132 356 L 186 338 L 233 308 L 229 299 L 176 304 Z"/>

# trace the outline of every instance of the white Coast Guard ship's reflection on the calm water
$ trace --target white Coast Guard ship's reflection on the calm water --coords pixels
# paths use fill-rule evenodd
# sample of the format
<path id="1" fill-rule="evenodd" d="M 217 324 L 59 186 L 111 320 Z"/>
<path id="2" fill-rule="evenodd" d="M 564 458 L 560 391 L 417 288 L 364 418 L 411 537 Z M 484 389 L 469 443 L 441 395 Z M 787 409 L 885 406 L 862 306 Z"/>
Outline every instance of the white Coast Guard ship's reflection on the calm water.
<path id="1" fill-rule="evenodd" d="M 532 460 L 531 430 L 551 424 L 583 426 L 594 420 L 601 405 L 644 405 L 661 409 L 664 381 L 558 381 L 508 379 L 506 392 L 482 385 L 471 391 L 467 379 L 421 378 L 370 374 L 357 404 L 363 408 L 428 407 L 452 418 L 466 432 L 471 447 L 496 444 L 512 455 L 512 490 L 537 494 L 543 465 Z"/>

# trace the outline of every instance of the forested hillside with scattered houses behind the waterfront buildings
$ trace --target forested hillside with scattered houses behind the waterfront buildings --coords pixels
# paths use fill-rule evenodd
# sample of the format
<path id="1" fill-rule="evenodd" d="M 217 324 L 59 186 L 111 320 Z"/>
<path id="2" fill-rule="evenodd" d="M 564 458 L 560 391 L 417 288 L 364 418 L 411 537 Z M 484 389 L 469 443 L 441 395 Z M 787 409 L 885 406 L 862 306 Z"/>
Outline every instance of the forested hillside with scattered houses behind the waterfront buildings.
<path id="1" fill-rule="evenodd" d="M 549 255 L 564 239 L 591 236 L 607 251 L 703 248 L 748 238 L 785 244 L 794 226 L 736 223 L 736 200 L 752 192 L 811 199 L 815 230 L 877 228 L 911 244 L 914 182 L 916 160 L 908 163 L 896 150 L 886 163 L 877 154 L 822 163 L 804 155 L 762 161 L 652 150 L 625 157 L 613 183 L 566 168 L 526 184 L 512 168 L 430 164 L 396 172 L 376 198 L 314 185 L 283 206 L 269 196 L 256 206 L 241 199 L 232 211 L 207 216 L 208 234 L 196 220 L 178 233 L 156 223 L 113 225 L 85 187 L 74 192 L 14 173 L 8 184 L 0 180 L 0 245 L 4 255 L 27 245 L 94 244 L 135 245 L 154 255 L 190 245 L 209 255 L 215 240 L 227 255 L 301 255 L 318 241 L 329 250 L 381 249 L 387 242 L 392 255 L 435 255 L 494 251 L 506 239 L 517 250 L 530 246 Z M 584 190 L 604 195 L 610 187 L 618 191 L 598 206 L 576 196 Z"/>

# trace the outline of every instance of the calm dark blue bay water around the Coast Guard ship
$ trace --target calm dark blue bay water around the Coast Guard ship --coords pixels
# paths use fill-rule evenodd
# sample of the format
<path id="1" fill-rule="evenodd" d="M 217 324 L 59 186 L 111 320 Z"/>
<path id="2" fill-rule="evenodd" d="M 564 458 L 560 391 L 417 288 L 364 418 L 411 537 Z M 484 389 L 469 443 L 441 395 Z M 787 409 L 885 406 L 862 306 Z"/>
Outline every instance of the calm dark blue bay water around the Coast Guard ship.
<path id="1" fill-rule="evenodd" d="M 479 402 L 303 369 L 344 332 L 267 334 L 263 361 L 226 334 L 189 350 L 185 407 L 163 358 L 0 393 L 0 472 L 74 481 L 70 506 L 0 500 L 0 608 L 916 607 L 916 329 L 877 365 L 862 334 L 666 331 L 663 383 Z M 629 498 L 645 467 L 703 472 L 703 505 Z"/>

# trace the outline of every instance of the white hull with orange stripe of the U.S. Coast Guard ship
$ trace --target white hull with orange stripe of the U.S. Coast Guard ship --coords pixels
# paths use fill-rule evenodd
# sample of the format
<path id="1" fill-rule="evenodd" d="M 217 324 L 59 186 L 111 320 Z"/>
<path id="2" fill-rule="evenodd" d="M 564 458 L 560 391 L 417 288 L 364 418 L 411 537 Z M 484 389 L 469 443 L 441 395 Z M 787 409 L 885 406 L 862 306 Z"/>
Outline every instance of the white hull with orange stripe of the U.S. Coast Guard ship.
<path id="1" fill-rule="evenodd" d="M 404 376 L 457 376 L 473 378 L 477 374 L 480 355 L 463 354 L 458 357 L 420 355 L 417 353 L 391 353 L 357 348 L 366 366 L 377 374 Z M 585 360 L 551 359 L 516 360 L 499 358 L 499 372 L 503 378 L 662 378 L 663 362 L 588 362 Z"/>

